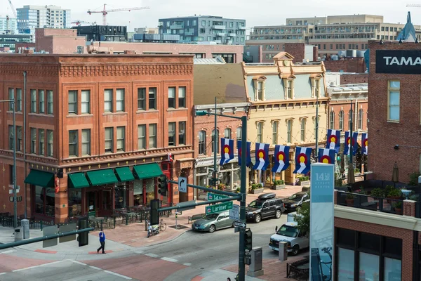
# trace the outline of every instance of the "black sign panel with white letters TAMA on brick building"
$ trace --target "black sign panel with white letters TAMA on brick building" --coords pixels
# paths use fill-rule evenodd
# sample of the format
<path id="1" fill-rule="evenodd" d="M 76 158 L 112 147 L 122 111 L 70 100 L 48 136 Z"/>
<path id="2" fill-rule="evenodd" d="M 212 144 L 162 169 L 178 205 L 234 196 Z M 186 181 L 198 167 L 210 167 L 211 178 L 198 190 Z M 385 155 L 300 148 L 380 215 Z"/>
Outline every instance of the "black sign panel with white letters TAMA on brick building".
<path id="1" fill-rule="evenodd" d="M 421 74 L 421 50 L 377 50 L 375 73 Z"/>

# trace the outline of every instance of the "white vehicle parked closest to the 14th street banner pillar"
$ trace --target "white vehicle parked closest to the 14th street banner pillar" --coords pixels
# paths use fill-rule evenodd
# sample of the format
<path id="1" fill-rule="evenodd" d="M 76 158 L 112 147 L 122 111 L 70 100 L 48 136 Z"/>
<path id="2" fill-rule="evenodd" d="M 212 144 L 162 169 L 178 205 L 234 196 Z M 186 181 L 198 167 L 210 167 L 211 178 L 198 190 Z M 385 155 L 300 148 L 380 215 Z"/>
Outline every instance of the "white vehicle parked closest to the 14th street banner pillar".
<path id="1" fill-rule="evenodd" d="M 287 242 L 287 251 L 293 256 L 298 254 L 300 249 L 309 247 L 307 233 L 301 233 L 295 222 L 284 223 L 279 229 L 276 226 L 275 231 L 269 242 L 269 248 L 274 251 L 279 251 L 279 242 Z"/>

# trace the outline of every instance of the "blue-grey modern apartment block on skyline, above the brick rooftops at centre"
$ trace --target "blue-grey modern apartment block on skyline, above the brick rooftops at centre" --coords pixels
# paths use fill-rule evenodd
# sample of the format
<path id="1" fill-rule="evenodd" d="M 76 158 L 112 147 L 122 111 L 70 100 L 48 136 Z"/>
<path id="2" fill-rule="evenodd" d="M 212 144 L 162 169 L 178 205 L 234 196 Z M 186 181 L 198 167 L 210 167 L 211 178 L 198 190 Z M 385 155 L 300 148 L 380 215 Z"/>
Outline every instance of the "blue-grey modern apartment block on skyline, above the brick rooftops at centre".
<path id="1" fill-rule="evenodd" d="M 180 43 L 213 41 L 216 44 L 244 45 L 246 20 L 199 15 L 160 18 L 160 34 L 178 34 Z"/>

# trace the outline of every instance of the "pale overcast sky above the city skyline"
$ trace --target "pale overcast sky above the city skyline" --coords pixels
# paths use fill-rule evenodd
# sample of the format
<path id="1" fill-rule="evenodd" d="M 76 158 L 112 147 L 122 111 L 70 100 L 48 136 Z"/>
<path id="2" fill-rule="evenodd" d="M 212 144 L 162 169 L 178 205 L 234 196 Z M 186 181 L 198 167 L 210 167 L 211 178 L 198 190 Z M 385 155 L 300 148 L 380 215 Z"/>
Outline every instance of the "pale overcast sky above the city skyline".
<path id="1" fill-rule="evenodd" d="M 374 14 L 383 15 L 385 22 L 406 22 L 408 11 L 413 24 L 421 25 L 421 8 L 408 8 L 406 4 L 421 4 L 415 0 L 11 0 L 15 8 L 24 5 L 57 5 L 72 10 L 72 20 L 83 20 L 102 24 L 102 14 L 88 15 L 89 9 L 102 10 L 104 2 L 107 9 L 149 6 L 149 10 L 116 12 L 107 15 L 109 25 L 127 25 L 128 30 L 135 27 L 156 27 L 159 18 L 185 15 L 220 15 L 225 18 L 246 20 L 248 28 L 256 25 L 282 25 L 286 18 L 313 17 L 326 15 Z M 409 2 L 407 2 L 409 1 Z M 203 3 L 208 4 L 204 6 Z M 0 15 L 13 15 L 8 0 L 0 0 Z"/>

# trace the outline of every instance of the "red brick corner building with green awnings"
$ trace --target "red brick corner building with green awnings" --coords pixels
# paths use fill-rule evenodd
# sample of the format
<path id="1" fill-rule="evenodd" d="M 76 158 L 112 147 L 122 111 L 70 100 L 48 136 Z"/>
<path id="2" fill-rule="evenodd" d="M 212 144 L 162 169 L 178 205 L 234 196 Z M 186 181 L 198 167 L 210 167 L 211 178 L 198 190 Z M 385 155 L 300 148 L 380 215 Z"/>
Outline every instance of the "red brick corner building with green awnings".
<path id="1" fill-rule="evenodd" d="M 156 190 L 162 174 L 192 182 L 192 88 L 192 55 L 0 55 L 0 100 L 17 101 L 18 214 L 25 189 L 27 216 L 55 222 L 192 199 Z M 0 206 L 13 212 L 13 112 L 0 110 Z"/>

